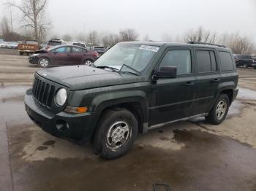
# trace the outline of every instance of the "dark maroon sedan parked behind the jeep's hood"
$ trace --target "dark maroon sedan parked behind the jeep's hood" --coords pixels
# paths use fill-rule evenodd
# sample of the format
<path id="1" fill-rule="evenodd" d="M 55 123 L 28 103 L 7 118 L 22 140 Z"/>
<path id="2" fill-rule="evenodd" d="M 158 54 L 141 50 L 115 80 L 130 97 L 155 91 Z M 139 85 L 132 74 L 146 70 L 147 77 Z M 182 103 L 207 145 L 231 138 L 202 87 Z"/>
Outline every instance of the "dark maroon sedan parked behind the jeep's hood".
<path id="1" fill-rule="evenodd" d="M 61 45 L 50 50 L 39 50 L 29 57 L 29 63 L 40 67 L 91 65 L 99 57 L 97 52 L 73 45 Z"/>

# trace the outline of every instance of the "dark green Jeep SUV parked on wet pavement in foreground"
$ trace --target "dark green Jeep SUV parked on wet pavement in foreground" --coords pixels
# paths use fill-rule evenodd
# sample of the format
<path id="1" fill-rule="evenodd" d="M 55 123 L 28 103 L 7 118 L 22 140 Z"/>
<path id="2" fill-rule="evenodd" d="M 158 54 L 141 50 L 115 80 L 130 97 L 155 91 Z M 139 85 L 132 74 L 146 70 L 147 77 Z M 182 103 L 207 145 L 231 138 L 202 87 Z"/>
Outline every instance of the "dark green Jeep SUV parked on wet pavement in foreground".
<path id="1" fill-rule="evenodd" d="M 91 66 L 37 71 L 26 112 L 42 130 L 105 158 L 138 133 L 193 117 L 221 123 L 236 98 L 233 53 L 217 44 L 121 42 Z"/>

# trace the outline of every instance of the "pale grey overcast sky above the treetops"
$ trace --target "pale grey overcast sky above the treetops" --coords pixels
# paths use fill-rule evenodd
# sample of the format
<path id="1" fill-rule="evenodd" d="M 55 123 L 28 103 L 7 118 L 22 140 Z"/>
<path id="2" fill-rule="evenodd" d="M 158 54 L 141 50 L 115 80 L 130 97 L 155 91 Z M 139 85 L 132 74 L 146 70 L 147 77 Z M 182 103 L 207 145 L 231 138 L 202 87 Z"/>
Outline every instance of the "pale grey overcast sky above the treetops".
<path id="1" fill-rule="evenodd" d="M 135 28 L 140 39 L 162 40 L 203 26 L 256 39 L 256 0 L 49 0 L 48 16 L 59 35 Z"/>

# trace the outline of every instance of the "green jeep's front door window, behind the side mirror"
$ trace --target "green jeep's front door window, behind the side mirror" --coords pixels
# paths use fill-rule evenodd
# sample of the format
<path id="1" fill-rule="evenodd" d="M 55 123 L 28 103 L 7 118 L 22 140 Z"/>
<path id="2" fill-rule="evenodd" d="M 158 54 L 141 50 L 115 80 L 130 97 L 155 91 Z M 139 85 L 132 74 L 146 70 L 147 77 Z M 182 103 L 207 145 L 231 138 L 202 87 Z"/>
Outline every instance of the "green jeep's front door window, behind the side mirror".
<path id="1" fill-rule="evenodd" d="M 191 74 L 190 50 L 170 50 L 160 63 L 160 67 L 176 66 L 177 75 Z"/>

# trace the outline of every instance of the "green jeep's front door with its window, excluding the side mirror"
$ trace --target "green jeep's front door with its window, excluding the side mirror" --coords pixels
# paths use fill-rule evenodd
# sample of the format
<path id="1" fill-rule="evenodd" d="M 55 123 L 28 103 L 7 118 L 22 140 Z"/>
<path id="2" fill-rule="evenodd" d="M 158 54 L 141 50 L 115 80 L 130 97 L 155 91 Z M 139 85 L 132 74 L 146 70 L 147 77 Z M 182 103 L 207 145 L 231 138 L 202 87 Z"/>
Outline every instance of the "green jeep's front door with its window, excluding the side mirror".
<path id="1" fill-rule="evenodd" d="M 150 126 L 192 115 L 195 98 L 195 70 L 192 48 L 170 48 L 162 56 L 162 66 L 176 66 L 176 79 L 152 82 Z"/>

